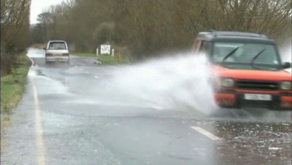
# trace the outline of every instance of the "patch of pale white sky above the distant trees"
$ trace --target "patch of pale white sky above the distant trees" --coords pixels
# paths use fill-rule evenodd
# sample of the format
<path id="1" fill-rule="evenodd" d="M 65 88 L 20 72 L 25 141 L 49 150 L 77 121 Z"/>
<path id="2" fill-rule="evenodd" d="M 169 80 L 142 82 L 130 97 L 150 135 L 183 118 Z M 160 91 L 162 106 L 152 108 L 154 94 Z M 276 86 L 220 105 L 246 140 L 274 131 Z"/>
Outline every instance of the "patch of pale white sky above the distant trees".
<path id="1" fill-rule="evenodd" d="M 32 0 L 30 6 L 30 24 L 37 23 L 36 17 L 42 13 L 44 8 L 61 2 L 62 0 Z"/>

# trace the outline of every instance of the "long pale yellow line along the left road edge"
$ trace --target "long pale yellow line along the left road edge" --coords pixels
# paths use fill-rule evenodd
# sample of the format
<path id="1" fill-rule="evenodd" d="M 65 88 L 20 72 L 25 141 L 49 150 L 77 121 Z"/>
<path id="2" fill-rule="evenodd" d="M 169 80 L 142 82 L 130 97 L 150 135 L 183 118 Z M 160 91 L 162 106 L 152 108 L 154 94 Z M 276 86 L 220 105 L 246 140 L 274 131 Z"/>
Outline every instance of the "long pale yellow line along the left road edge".
<path id="1" fill-rule="evenodd" d="M 34 92 L 34 108 L 35 108 L 35 118 L 36 118 L 36 144 L 38 148 L 38 164 L 45 165 L 45 149 L 43 141 L 43 130 L 41 125 L 41 110 L 39 107 L 39 98 L 36 91 L 36 86 L 32 86 Z"/>

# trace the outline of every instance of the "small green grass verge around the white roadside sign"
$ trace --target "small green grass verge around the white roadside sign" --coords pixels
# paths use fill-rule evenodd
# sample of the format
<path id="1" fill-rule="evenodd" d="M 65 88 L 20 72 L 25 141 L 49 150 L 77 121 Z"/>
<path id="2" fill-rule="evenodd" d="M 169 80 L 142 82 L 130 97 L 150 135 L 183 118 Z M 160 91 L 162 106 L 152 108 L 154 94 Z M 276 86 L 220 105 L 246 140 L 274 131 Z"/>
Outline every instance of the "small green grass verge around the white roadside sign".
<path id="1" fill-rule="evenodd" d="M 72 55 L 80 56 L 80 57 L 97 57 L 96 54 L 93 53 L 81 53 L 81 52 L 74 52 Z M 117 65 L 117 64 L 125 64 L 129 63 L 129 60 L 126 59 L 115 59 L 111 55 L 98 55 L 98 61 L 100 61 L 102 64 L 107 65 Z"/>

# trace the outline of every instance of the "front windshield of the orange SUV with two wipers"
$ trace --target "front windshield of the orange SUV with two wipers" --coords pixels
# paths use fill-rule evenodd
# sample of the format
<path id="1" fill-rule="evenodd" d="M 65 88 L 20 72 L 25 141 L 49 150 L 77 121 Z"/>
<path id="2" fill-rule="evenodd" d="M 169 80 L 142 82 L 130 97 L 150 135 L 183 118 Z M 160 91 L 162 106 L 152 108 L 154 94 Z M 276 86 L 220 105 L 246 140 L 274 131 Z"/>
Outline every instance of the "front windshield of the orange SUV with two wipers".
<path id="1" fill-rule="evenodd" d="M 238 49 L 223 61 L 224 57 L 236 48 Z M 253 61 L 259 53 L 260 55 Z M 280 69 L 276 48 L 269 44 L 215 42 L 211 61 L 231 69 Z M 257 67 L 254 68 L 252 65 Z"/>

